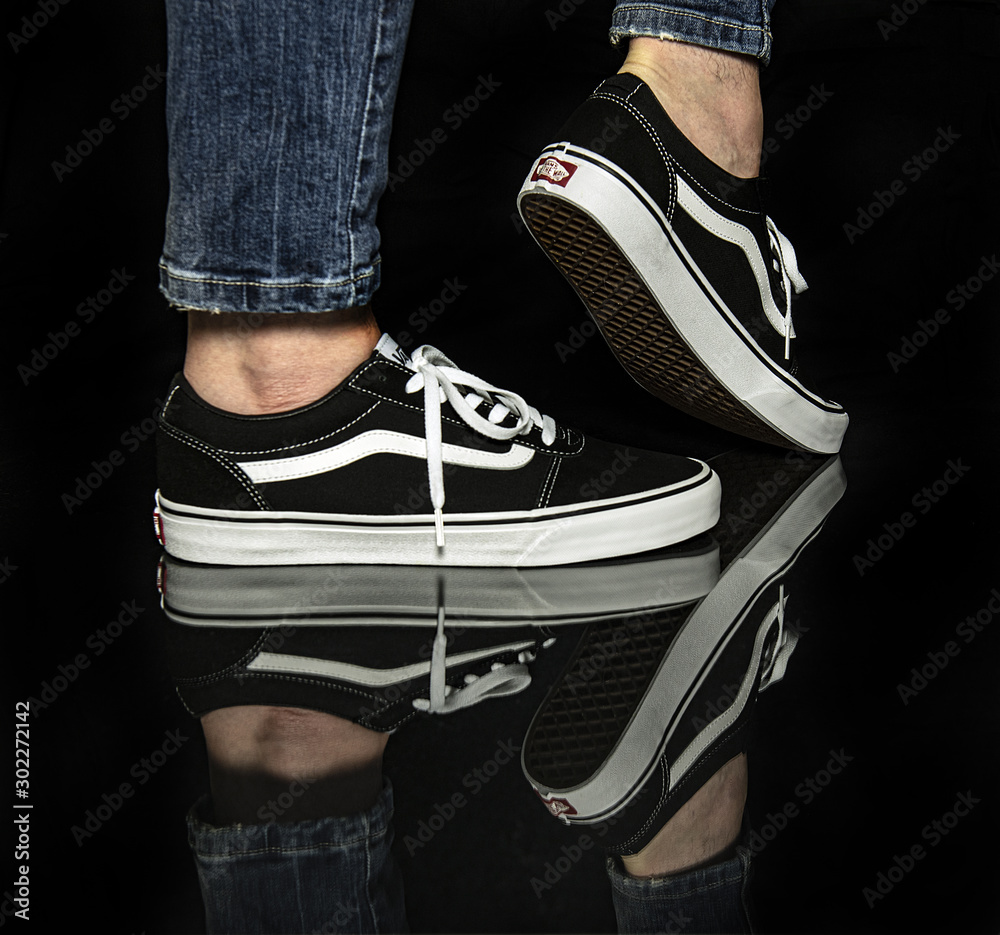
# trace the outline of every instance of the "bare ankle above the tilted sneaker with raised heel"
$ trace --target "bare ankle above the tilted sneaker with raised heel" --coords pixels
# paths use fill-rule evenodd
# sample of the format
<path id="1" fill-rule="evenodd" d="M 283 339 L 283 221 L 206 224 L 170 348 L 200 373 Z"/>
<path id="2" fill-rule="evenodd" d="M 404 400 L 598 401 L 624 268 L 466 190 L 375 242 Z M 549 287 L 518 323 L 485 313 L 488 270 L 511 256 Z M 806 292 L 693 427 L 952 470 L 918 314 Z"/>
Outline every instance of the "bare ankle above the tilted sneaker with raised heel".
<path id="1" fill-rule="evenodd" d="M 716 165 L 740 178 L 759 174 L 764 113 L 755 59 L 639 37 L 620 71 L 648 84 L 681 133 Z"/>

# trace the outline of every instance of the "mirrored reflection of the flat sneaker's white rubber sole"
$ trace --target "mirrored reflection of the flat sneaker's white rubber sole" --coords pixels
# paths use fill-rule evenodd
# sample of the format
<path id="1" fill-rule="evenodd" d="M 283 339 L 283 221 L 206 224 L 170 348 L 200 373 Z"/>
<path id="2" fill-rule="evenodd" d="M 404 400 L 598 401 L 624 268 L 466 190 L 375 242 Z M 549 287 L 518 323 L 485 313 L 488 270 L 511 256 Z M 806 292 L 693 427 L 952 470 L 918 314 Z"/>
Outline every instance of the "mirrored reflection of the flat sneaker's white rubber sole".
<path id="1" fill-rule="evenodd" d="M 529 568 L 431 565 L 201 565 L 164 554 L 161 606 L 203 627 L 565 627 L 704 597 L 719 579 L 707 533 L 614 559 Z"/>

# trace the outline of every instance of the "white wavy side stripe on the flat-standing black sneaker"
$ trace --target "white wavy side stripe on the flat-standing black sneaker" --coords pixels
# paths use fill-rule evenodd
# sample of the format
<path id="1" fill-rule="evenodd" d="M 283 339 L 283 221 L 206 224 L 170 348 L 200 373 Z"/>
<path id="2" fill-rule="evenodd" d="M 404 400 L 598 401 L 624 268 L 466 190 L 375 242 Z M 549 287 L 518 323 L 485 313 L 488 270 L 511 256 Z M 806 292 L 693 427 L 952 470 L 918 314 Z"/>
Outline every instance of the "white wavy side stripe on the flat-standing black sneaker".
<path id="1" fill-rule="evenodd" d="M 478 451 L 460 445 L 445 444 L 441 447 L 446 464 L 486 468 L 492 471 L 511 471 L 524 467 L 535 455 L 533 449 L 516 443 L 512 444 L 508 451 L 501 452 Z M 415 435 L 375 429 L 355 435 L 354 438 L 332 448 L 314 451 L 312 454 L 274 458 L 270 461 L 241 461 L 240 467 L 255 484 L 269 484 L 274 481 L 298 480 L 302 477 L 335 471 L 337 468 L 376 454 L 426 458 L 427 443 Z"/>

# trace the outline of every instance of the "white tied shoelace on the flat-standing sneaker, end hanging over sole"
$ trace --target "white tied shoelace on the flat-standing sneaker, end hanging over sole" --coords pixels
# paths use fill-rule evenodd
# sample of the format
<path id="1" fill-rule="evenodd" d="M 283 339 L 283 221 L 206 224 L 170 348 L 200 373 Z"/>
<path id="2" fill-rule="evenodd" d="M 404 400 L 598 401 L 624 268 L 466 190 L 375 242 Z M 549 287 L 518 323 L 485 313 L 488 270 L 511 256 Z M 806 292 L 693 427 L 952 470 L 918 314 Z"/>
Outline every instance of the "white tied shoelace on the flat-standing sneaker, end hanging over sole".
<path id="1" fill-rule="evenodd" d="M 441 403 L 447 399 L 455 412 L 475 432 L 506 441 L 526 435 L 534 426 L 542 430 L 542 444 L 551 445 L 556 438 L 556 426 L 551 417 L 543 416 L 529 406 L 517 393 L 502 390 L 471 373 L 459 370 L 437 348 L 428 344 L 418 347 L 408 365 L 416 371 L 406 384 L 407 393 L 424 391 L 424 436 L 427 441 L 427 479 L 431 505 L 434 507 L 434 531 L 438 548 L 444 547 L 444 460 L 441 443 Z M 459 386 L 469 390 L 462 394 Z M 477 411 L 483 403 L 493 403 L 489 415 Z M 510 426 L 500 422 L 508 415 L 517 417 Z"/>

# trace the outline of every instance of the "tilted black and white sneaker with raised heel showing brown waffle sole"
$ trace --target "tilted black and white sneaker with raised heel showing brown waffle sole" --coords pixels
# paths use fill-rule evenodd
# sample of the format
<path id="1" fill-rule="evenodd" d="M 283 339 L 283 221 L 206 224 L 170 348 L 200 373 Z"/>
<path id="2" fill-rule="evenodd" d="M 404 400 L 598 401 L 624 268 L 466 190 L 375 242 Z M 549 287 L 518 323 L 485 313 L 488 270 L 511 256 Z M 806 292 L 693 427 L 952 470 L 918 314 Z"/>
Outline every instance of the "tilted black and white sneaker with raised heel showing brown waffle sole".
<path id="1" fill-rule="evenodd" d="M 601 152 L 581 145 L 609 125 Z M 518 207 L 629 375 L 740 435 L 839 451 L 847 413 L 802 382 L 793 357 L 791 298 L 806 283 L 761 180 L 711 162 L 629 74 L 605 81 L 559 138 Z"/>

